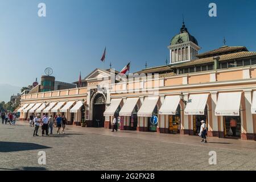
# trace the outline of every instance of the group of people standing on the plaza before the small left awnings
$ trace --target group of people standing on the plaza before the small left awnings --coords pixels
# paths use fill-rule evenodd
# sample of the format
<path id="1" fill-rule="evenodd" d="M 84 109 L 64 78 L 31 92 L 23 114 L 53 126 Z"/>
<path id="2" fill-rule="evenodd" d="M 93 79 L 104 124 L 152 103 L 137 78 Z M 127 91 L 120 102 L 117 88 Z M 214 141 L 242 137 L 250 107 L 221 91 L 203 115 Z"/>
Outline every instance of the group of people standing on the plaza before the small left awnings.
<path id="1" fill-rule="evenodd" d="M 34 126 L 34 134 L 33 136 L 39 136 L 38 135 L 38 129 L 41 126 L 42 127 L 42 136 L 46 135 L 48 136 L 50 134 L 53 134 L 53 127 L 57 127 L 57 134 L 65 133 L 65 126 L 67 125 L 67 118 L 63 115 L 63 117 L 59 115 L 56 115 L 53 117 L 50 115 L 48 117 L 48 114 L 43 114 L 42 118 L 40 117 L 40 114 L 32 115 L 30 119 L 33 117 L 32 122 L 30 122 L 30 126 Z"/>

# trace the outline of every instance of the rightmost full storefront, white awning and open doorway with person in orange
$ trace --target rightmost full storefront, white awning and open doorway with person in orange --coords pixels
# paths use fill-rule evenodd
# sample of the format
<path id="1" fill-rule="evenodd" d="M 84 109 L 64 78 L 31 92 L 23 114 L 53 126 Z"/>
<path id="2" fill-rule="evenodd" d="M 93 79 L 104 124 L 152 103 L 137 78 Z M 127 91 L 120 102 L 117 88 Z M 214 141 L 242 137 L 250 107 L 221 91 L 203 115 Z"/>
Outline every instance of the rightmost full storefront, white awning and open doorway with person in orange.
<path id="1" fill-rule="evenodd" d="M 224 137 L 241 137 L 241 92 L 219 93 L 215 115 L 221 117 Z"/>

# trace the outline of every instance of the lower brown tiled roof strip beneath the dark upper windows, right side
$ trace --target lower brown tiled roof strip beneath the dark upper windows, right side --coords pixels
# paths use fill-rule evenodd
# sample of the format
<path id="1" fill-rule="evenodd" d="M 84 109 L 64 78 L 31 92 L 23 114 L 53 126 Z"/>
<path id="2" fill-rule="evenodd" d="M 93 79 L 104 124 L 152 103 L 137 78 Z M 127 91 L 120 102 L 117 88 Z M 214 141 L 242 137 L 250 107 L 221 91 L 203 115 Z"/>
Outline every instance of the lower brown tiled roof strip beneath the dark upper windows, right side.
<path id="1" fill-rule="evenodd" d="M 243 52 L 229 53 L 229 54 L 226 54 L 226 55 L 221 55 L 219 61 L 233 60 L 233 59 L 249 57 L 249 56 L 256 56 L 256 52 L 243 51 Z M 202 58 L 202 59 L 189 61 L 187 63 L 175 65 L 171 68 L 190 67 L 192 65 L 207 64 L 207 63 L 214 63 L 213 57 L 205 57 L 205 58 Z"/>

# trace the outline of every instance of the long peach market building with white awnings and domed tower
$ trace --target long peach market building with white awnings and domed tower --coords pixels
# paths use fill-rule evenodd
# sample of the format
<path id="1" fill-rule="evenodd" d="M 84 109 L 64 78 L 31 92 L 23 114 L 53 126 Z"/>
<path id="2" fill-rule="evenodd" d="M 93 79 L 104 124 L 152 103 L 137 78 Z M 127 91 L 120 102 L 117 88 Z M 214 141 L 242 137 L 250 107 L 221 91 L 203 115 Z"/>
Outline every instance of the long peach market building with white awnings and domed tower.
<path id="1" fill-rule="evenodd" d="M 256 52 L 222 46 L 198 54 L 185 24 L 172 38 L 170 64 L 136 72 L 130 79 L 113 69 L 95 69 L 83 87 L 23 95 L 21 119 L 31 113 L 64 114 L 70 124 L 121 130 L 256 140 Z"/>

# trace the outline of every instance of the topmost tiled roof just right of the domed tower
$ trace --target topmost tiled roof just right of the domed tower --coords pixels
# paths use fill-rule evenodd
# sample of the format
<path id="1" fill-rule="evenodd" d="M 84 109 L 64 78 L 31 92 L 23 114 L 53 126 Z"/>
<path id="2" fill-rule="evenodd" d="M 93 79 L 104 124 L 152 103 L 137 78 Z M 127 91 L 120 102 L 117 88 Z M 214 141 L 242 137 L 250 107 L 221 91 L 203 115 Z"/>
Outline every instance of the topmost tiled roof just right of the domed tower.
<path id="1" fill-rule="evenodd" d="M 225 53 L 225 52 L 232 52 L 232 51 L 248 51 L 246 47 L 244 46 L 223 46 L 223 47 L 220 47 L 218 49 L 214 49 L 212 51 L 209 51 L 209 52 L 205 52 L 205 53 L 201 53 L 200 55 L 196 55 L 197 57 L 199 58 L 203 58 L 205 56 L 211 56 L 211 55 L 214 55 L 214 54 L 219 54 L 219 53 Z"/>

